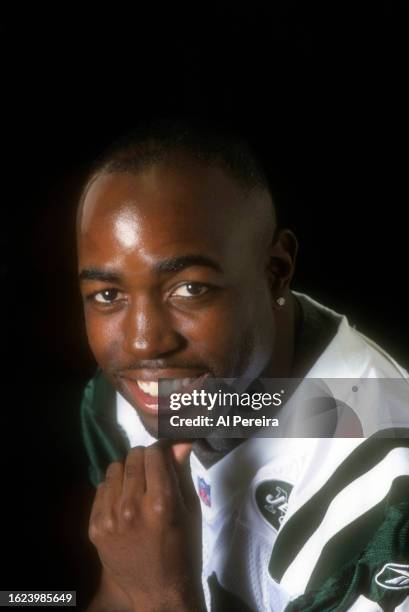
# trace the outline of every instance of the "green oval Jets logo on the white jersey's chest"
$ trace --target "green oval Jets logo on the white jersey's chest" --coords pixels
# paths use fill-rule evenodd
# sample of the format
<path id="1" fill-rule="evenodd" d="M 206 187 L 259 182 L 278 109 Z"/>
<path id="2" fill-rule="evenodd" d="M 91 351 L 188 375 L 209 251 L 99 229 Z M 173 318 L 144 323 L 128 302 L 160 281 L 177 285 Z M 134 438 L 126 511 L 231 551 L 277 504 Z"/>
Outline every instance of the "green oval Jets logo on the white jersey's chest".
<path id="1" fill-rule="evenodd" d="M 256 488 L 256 503 L 265 520 L 280 528 L 288 508 L 292 485 L 283 480 L 264 480 Z"/>

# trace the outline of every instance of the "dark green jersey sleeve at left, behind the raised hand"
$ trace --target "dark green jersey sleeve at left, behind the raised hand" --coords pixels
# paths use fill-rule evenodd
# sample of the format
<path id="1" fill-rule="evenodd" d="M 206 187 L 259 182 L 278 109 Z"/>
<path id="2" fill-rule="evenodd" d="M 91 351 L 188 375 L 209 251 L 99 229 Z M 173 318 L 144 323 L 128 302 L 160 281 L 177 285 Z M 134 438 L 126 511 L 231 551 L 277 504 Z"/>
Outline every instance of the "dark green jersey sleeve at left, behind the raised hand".
<path id="1" fill-rule="evenodd" d="M 116 421 L 115 390 L 98 371 L 84 389 L 81 432 L 89 458 L 89 478 L 96 487 L 112 461 L 125 458 L 129 442 Z"/>

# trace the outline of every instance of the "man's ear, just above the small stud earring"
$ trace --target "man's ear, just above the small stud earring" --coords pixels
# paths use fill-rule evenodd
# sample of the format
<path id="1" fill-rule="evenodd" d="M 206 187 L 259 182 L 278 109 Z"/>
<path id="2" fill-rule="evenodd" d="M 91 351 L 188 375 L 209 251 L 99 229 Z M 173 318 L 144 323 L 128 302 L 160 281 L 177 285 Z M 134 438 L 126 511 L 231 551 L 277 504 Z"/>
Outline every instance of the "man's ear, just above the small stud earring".
<path id="1" fill-rule="evenodd" d="M 288 293 L 294 276 L 298 241 L 289 229 L 278 230 L 270 247 L 267 275 L 274 301 Z"/>

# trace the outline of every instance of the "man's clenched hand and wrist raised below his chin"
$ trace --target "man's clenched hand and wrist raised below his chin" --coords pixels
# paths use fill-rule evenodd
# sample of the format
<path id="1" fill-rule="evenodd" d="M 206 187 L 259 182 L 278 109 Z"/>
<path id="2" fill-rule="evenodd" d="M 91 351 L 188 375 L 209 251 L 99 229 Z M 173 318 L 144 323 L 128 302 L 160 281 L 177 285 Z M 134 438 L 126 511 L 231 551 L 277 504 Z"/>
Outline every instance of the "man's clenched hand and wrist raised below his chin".
<path id="1" fill-rule="evenodd" d="M 97 488 L 89 537 L 135 610 L 204 610 L 200 506 L 190 445 L 156 442 L 111 463 Z"/>

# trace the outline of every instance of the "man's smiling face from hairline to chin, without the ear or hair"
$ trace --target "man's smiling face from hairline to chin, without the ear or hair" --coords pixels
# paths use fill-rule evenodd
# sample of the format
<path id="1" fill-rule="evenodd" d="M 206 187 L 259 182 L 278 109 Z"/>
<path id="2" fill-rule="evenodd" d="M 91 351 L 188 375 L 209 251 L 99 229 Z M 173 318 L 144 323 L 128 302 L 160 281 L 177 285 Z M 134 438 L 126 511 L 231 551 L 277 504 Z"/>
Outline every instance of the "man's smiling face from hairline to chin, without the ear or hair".
<path id="1" fill-rule="evenodd" d="M 266 197 L 187 161 L 91 184 L 78 223 L 88 340 L 148 430 L 160 378 L 176 379 L 177 391 L 186 379 L 268 368 L 275 329 L 258 231 Z"/>

